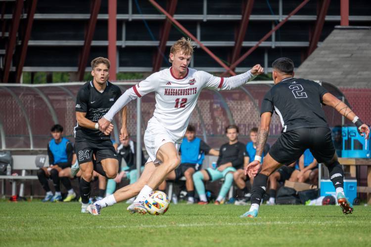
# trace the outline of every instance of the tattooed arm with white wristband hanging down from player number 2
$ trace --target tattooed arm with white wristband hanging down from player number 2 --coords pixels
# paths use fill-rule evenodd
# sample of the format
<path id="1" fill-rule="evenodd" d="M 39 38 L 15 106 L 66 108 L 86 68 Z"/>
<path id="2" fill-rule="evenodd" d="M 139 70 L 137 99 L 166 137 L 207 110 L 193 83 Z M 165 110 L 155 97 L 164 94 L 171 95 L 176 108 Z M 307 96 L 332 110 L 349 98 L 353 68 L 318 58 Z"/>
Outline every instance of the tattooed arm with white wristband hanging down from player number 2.
<path id="1" fill-rule="evenodd" d="M 267 143 L 269 134 L 269 125 L 271 124 L 272 113 L 264 112 L 261 116 L 260 126 L 258 130 L 258 140 L 256 142 L 256 154 L 255 159 L 245 168 L 245 175 L 249 177 L 255 177 L 260 169 L 260 164 L 262 162 L 262 154 L 264 151 L 264 146 Z"/>

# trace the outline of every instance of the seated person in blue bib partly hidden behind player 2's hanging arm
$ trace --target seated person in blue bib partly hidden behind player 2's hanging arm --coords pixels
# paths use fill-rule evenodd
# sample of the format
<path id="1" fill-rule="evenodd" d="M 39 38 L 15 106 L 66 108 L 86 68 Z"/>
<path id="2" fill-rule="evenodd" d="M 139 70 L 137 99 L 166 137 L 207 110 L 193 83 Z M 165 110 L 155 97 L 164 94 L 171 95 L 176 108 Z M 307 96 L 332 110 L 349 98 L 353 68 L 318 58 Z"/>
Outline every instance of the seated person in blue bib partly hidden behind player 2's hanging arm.
<path id="1" fill-rule="evenodd" d="M 253 161 L 255 158 L 256 153 L 256 142 L 258 139 L 258 128 L 253 127 L 250 129 L 250 142 L 246 144 L 246 156 L 244 160 L 244 166 L 248 165 L 250 161 Z M 264 158 L 264 155 L 267 154 L 269 151 L 269 145 L 266 144 L 263 152 L 262 159 Z M 244 168 L 244 167 L 243 167 Z M 243 198 L 236 200 L 235 205 L 247 205 L 247 202 L 250 201 L 251 194 L 249 193 L 247 186 L 246 186 L 246 180 L 248 179 L 247 176 L 244 174 L 244 169 L 238 169 L 233 174 L 233 179 L 237 187 L 243 191 Z M 250 178 L 250 184 L 252 186 L 254 179 Z"/>

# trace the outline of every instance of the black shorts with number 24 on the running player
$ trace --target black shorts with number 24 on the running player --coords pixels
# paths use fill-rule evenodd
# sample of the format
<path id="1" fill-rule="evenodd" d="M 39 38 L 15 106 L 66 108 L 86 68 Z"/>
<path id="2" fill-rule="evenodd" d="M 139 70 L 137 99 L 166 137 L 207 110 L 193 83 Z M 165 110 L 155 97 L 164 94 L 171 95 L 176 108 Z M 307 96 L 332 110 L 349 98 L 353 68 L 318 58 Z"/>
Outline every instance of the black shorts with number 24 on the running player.
<path id="1" fill-rule="evenodd" d="M 118 160 L 116 150 L 111 140 L 76 140 L 75 150 L 79 165 L 92 161 L 93 154 L 95 155 L 96 162 L 108 158 Z"/>

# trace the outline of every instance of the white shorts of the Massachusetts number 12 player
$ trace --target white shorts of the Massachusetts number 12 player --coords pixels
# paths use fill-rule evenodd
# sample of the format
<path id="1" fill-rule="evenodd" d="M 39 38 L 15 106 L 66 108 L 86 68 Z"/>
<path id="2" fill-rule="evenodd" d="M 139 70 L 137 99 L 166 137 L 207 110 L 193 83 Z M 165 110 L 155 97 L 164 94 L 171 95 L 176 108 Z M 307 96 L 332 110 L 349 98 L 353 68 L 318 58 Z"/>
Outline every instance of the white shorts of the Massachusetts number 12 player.
<path id="1" fill-rule="evenodd" d="M 156 159 L 157 151 L 168 142 L 174 143 L 175 148 L 179 151 L 181 143 L 175 142 L 168 134 L 168 131 L 155 118 L 150 119 L 144 132 L 144 146 L 149 156 L 146 164 L 149 162 L 160 163 Z"/>

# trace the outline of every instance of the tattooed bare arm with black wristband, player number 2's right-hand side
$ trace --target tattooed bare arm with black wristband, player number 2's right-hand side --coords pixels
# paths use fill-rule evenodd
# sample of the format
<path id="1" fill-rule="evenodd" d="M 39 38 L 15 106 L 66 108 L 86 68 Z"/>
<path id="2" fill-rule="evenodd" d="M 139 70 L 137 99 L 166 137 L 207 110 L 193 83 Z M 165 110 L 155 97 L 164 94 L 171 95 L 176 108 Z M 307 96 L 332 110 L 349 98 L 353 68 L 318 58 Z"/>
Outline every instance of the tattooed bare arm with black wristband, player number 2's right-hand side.
<path id="1" fill-rule="evenodd" d="M 325 105 L 335 108 L 335 110 L 338 111 L 341 115 L 352 121 L 353 124 L 357 126 L 358 132 L 361 134 L 361 136 L 365 136 L 365 139 L 369 139 L 369 126 L 367 124 L 364 124 L 349 106 L 333 96 L 331 93 L 325 93 L 324 96 L 322 96 L 322 101 Z"/>

